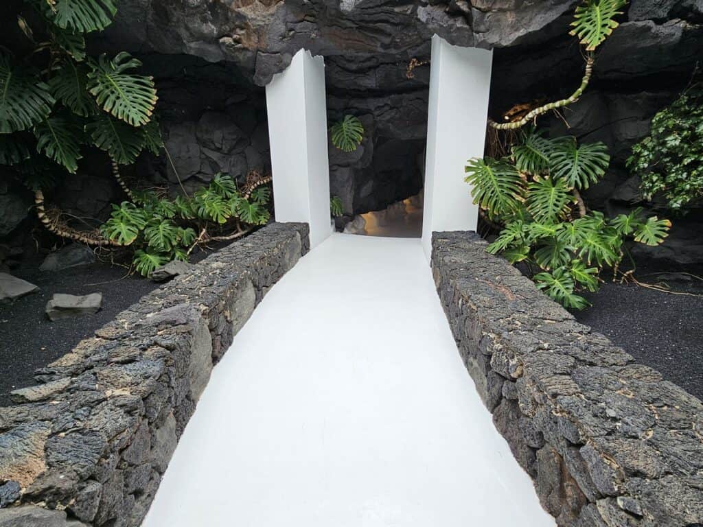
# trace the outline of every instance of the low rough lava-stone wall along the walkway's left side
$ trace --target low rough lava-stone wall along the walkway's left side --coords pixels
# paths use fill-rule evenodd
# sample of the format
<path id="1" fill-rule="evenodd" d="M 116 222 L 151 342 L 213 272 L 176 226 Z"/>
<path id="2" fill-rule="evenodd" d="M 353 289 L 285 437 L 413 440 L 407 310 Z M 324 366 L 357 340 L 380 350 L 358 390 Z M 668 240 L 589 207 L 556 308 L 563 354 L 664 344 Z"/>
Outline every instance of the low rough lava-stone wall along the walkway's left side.
<path id="1" fill-rule="evenodd" d="M 305 224 L 262 228 L 16 391 L 30 402 L 0 408 L 0 526 L 138 527 L 212 366 L 308 244 Z"/>

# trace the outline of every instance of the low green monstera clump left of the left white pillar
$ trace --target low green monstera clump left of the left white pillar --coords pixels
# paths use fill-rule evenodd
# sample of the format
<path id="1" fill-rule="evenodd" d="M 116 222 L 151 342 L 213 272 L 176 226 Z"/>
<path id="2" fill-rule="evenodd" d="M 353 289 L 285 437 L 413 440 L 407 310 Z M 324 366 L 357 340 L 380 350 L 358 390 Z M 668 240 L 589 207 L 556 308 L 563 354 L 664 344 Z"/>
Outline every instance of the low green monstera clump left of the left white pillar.
<path id="1" fill-rule="evenodd" d="M 134 248 L 134 268 L 148 275 L 174 259 L 187 260 L 203 230 L 228 228 L 239 223 L 264 225 L 269 221 L 271 191 L 259 187 L 249 200 L 240 194 L 227 174 L 214 176 L 209 186 L 193 197 L 168 200 L 152 191 L 136 191 L 134 202 L 112 205 L 101 232 L 120 245 Z"/>

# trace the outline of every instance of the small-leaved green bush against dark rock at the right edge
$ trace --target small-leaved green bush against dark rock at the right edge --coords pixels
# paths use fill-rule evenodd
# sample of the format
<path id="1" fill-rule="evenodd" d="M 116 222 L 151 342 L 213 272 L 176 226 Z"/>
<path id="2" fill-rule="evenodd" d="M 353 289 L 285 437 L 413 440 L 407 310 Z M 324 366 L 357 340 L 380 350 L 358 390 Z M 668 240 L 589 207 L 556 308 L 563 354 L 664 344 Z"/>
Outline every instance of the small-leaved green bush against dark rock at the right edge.
<path id="1" fill-rule="evenodd" d="M 650 135 L 632 148 L 628 167 L 651 199 L 661 194 L 673 210 L 703 197 L 703 84 L 694 84 L 652 119 Z"/>

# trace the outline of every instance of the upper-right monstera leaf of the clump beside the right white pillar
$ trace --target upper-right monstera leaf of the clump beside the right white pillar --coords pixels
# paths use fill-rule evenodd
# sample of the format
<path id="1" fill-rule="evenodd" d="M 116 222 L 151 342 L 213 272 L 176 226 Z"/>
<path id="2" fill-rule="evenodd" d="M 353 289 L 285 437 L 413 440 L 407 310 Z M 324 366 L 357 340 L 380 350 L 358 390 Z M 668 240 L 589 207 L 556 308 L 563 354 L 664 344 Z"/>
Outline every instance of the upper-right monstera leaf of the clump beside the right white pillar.
<path id="1" fill-rule="evenodd" d="M 610 155 L 604 143 L 576 145 L 576 138 L 569 137 L 553 142 L 549 162 L 550 176 L 563 179 L 569 188 L 586 189 L 605 174 Z"/>

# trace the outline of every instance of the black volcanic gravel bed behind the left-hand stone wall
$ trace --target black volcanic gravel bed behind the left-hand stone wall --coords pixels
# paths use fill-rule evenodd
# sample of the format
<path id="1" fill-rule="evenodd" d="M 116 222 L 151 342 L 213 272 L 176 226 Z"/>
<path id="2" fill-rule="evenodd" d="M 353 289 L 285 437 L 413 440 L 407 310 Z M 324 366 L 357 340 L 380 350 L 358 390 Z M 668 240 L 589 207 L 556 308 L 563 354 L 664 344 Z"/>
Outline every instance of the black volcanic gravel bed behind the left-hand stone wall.
<path id="1" fill-rule="evenodd" d="M 0 405 L 10 402 L 9 392 L 37 384 L 34 370 L 68 353 L 79 341 L 91 337 L 123 309 L 158 287 L 138 276 L 127 276 L 118 266 L 93 263 L 52 273 L 13 271 L 39 287 L 39 291 L 0 304 Z M 51 322 L 44 315 L 54 293 L 103 294 L 103 308 L 94 315 Z"/>

